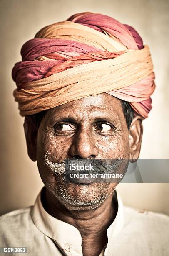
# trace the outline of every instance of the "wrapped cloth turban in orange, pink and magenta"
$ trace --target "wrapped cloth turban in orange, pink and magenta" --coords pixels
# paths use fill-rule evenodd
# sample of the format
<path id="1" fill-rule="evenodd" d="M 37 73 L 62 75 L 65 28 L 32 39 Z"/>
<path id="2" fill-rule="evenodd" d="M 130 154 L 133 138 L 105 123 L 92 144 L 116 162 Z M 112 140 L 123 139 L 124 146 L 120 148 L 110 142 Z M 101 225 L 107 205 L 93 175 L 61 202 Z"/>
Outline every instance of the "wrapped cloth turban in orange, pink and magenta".
<path id="1" fill-rule="evenodd" d="M 42 28 L 12 69 L 20 115 L 107 92 L 147 118 L 154 72 L 149 47 L 131 26 L 107 15 L 78 13 Z"/>

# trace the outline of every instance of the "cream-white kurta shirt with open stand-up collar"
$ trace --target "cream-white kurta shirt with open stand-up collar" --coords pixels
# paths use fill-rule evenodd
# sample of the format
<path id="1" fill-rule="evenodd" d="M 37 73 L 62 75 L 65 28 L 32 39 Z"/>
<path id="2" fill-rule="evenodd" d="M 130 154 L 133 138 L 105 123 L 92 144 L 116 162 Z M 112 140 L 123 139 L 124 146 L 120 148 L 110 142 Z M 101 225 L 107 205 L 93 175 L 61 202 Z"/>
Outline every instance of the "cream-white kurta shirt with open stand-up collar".
<path id="1" fill-rule="evenodd" d="M 27 247 L 30 256 L 82 256 L 79 230 L 49 215 L 41 193 L 34 206 L 0 217 L 0 247 Z M 169 216 L 125 207 L 119 195 L 117 204 L 108 243 L 99 256 L 169 256 Z"/>

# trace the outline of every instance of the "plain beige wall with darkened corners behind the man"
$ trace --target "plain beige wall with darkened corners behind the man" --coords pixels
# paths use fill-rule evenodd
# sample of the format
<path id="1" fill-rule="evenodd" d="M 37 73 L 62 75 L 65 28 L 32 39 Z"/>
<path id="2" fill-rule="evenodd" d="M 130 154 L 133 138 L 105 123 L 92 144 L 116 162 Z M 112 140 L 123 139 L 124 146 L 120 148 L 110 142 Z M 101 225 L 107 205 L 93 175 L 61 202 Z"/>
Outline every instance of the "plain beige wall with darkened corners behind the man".
<path id="1" fill-rule="evenodd" d="M 12 91 L 11 70 L 25 41 L 48 24 L 91 11 L 136 28 L 151 49 L 157 88 L 144 121 L 141 158 L 169 158 L 168 0 L 0 0 L 0 214 L 32 205 L 42 187 L 36 163 L 27 156 L 23 118 Z M 169 184 L 120 184 L 124 203 L 169 214 Z"/>

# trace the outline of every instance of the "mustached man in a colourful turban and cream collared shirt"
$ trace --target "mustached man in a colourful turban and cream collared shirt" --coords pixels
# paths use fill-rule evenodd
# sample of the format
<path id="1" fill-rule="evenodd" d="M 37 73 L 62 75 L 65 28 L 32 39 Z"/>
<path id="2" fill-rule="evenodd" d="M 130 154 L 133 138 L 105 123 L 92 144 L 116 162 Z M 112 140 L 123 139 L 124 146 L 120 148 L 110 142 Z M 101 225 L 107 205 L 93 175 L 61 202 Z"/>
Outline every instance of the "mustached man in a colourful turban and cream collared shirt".
<path id="1" fill-rule="evenodd" d="M 131 26 L 78 13 L 42 28 L 21 54 L 14 96 L 45 186 L 34 206 L 0 218 L 0 246 L 32 256 L 169 255 L 167 216 L 124 207 L 119 180 L 65 182 L 62 169 L 66 159 L 138 159 L 155 87 L 149 47 Z"/>

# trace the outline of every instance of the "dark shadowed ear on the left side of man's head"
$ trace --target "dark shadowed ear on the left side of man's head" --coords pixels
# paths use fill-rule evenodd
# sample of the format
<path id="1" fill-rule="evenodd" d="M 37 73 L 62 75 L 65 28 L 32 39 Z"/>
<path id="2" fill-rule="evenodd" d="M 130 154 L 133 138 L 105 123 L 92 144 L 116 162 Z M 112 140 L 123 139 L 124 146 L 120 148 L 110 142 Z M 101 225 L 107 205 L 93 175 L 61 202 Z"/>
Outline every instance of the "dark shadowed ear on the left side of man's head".
<path id="1" fill-rule="evenodd" d="M 36 161 L 37 127 L 30 116 L 25 117 L 23 124 L 27 144 L 27 153 L 32 161 Z"/>

